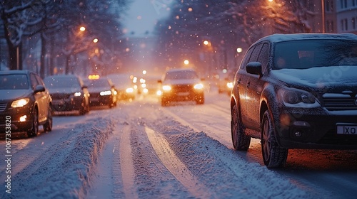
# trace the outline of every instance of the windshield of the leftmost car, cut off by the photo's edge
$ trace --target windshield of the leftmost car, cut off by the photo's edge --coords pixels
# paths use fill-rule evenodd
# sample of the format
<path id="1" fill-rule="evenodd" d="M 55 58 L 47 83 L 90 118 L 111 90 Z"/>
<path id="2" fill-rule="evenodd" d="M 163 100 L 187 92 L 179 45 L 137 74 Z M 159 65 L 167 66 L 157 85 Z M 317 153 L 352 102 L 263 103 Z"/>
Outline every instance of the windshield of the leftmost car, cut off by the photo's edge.
<path id="1" fill-rule="evenodd" d="M 29 89 L 27 75 L 0 75 L 0 90 Z"/>

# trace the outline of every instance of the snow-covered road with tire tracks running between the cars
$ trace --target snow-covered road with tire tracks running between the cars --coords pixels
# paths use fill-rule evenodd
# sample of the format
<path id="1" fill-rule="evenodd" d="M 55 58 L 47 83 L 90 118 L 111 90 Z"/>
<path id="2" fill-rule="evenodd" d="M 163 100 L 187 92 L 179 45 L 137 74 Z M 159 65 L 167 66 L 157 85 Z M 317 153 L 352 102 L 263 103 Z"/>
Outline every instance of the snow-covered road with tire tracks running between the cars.
<path id="1" fill-rule="evenodd" d="M 11 194 L 1 161 L 0 198 L 356 197 L 357 151 L 290 150 L 286 168 L 269 170 L 258 140 L 233 150 L 230 115 L 212 89 L 203 105 L 144 97 L 54 117 L 50 133 L 11 141 Z"/>

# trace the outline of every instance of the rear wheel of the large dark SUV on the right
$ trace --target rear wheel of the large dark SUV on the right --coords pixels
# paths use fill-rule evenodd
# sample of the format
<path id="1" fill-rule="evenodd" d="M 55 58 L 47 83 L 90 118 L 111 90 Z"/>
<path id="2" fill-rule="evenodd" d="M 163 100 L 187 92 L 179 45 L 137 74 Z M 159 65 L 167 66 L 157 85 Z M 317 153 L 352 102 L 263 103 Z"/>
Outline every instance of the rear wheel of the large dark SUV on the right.
<path id="1" fill-rule="evenodd" d="M 251 137 L 244 132 L 237 105 L 234 105 L 232 110 L 231 136 L 234 149 L 239 151 L 248 150 L 249 144 L 251 144 Z"/>

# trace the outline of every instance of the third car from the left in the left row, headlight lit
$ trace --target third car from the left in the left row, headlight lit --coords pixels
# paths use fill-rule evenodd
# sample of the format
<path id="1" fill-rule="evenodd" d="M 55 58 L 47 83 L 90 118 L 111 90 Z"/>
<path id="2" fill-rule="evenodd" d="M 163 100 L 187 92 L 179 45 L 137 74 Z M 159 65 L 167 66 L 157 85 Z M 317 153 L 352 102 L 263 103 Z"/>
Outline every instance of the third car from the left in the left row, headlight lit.
<path id="1" fill-rule="evenodd" d="M 90 106 L 109 106 L 115 107 L 117 92 L 113 82 L 109 78 L 99 77 L 95 80 L 86 80 L 90 93 Z"/>

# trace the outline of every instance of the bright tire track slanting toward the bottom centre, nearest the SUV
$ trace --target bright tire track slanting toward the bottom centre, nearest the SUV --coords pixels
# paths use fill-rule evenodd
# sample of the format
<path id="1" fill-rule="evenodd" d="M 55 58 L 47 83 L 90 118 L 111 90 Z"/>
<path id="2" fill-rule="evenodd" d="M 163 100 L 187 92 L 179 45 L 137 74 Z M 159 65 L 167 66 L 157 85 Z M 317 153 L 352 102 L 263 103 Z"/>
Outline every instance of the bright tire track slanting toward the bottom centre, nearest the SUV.
<path id="1" fill-rule="evenodd" d="M 145 127 L 145 131 L 151 146 L 153 146 L 157 156 L 159 156 L 161 162 L 170 173 L 196 198 L 209 198 L 211 194 L 208 188 L 200 183 L 200 181 L 193 176 L 191 171 L 186 168 L 185 164 L 180 161 L 174 151 L 170 149 L 169 143 L 164 136 L 155 133 L 155 131 L 149 127 Z"/>

